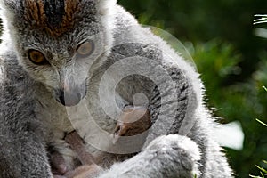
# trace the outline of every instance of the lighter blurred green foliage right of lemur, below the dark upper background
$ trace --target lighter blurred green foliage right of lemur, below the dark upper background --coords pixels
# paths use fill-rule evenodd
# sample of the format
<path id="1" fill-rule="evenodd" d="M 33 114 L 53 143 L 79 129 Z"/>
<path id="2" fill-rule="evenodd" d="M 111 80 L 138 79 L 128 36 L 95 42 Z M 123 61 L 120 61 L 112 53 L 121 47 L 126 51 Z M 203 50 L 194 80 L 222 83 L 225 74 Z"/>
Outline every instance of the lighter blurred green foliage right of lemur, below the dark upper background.
<path id="1" fill-rule="evenodd" d="M 215 39 L 196 44 L 194 51 L 192 56 L 206 84 L 209 106 L 215 108 L 216 116 L 225 118 L 224 122 L 239 120 L 246 135 L 243 150 L 228 150 L 231 166 L 239 177 L 256 173 L 255 165 L 267 155 L 267 133 L 255 122 L 255 117 L 267 115 L 267 95 L 262 87 L 266 77 L 262 69 L 267 68 L 267 63 L 247 82 L 231 83 L 231 77 L 241 72 L 240 54 L 232 44 Z"/>

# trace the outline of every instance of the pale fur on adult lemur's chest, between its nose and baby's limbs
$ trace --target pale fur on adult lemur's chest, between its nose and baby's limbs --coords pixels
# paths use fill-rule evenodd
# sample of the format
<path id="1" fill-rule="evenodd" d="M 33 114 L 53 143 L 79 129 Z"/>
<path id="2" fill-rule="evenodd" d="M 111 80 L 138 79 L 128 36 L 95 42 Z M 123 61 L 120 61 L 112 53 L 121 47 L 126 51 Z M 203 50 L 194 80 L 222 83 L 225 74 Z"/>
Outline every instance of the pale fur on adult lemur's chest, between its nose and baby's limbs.
<path id="1" fill-rule="evenodd" d="M 89 92 L 90 93 L 90 92 Z M 91 93 L 93 94 L 93 93 Z M 85 97 L 77 106 L 65 107 L 55 101 L 51 94 L 40 94 L 37 107 L 38 117 L 44 121 L 49 130 L 47 135 L 48 144 L 63 155 L 68 167 L 74 167 L 74 158 L 77 154 L 69 149 L 69 144 L 64 141 L 65 134 L 74 130 L 85 140 L 86 150 L 93 156 L 106 151 L 112 143 L 110 135 L 115 128 L 117 121 L 104 116 L 102 110 L 95 108 L 99 103 L 92 100 L 93 97 Z M 90 108 L 94 107 L 94 108 Z"/>

